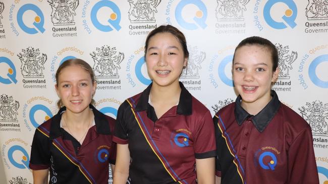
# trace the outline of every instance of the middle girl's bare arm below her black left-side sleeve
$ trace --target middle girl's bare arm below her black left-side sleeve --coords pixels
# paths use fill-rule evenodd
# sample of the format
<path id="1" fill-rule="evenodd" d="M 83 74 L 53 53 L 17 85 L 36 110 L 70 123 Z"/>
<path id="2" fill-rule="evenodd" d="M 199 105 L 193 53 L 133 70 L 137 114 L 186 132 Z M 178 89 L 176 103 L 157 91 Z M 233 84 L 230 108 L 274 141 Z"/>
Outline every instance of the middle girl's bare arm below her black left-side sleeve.
<path id="1" fill-rule="evenodd" d="M 117 144 L 117 157 L 114 170 L 113 182 L 126 184 L 129 177 L 130 151 L 129 144 Z"/>

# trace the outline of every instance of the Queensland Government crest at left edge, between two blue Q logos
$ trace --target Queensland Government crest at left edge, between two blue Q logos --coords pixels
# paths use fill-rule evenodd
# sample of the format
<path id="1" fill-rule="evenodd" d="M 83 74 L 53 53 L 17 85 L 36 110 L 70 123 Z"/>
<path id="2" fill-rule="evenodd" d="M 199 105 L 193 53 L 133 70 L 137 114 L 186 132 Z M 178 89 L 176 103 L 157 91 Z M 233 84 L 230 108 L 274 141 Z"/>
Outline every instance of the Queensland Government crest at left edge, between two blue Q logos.
<path id="1" fill-rule="evenodd" d="M 20 124 L 17 119 L 19 102 L 12 96 L 3 94 L 0 98 L 0 131 L 20 132 Z"/>

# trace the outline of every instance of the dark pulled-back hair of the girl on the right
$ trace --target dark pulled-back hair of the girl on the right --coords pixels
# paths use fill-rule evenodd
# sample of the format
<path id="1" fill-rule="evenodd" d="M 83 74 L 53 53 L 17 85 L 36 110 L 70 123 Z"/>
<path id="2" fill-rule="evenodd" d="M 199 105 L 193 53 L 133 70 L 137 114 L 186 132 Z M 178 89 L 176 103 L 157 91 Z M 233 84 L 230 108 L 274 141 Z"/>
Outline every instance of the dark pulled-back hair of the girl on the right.
<path id="1" fill-rule="evenodd" d="M 279 56 L 278 56 L 278 50 L 276 48 L 276 46 L 270 42 L 269 40 L 259 37 L 259 36 L 252 36 L 252 37 L 248 37 L 245 38 L 244 40 L 242 40 L 236 47 L 235 49 L 235 54 L 236 51 L 242 47 L 242 46 L 246 46 L 246 45 L 258 45 L 261 47 L 266 48 L 269 53 L 271 54 L 271 59 L 272 59 L 272 71 L 276 71 L 277 67 L 278 67 L 278 61 L 279 61 Z M 235 60 L 235 54 L 234 54 L 234 58 L 233 58 L 233 63 Z"/>

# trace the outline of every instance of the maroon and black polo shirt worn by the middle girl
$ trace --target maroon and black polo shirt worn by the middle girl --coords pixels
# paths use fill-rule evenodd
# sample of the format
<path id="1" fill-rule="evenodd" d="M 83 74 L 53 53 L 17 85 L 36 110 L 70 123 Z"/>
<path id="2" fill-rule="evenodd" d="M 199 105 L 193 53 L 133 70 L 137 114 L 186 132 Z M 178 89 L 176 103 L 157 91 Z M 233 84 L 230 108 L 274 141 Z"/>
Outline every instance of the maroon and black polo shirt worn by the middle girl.
<path id="1" fill-rule="evenodd" d="M 196 183 L 195 159 L 216 155 L 210 112 L 180 83 L 179 104 L 157 119 L 151 85 L 118 111 L 113 141 L 129 144 L 131 183 Z"/>

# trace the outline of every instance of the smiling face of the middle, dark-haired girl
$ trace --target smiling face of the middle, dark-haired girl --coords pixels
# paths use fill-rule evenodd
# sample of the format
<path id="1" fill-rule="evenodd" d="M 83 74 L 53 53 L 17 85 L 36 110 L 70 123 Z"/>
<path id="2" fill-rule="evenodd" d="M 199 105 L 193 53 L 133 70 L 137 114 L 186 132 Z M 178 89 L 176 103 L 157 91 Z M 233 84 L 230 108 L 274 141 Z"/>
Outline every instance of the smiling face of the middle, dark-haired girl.
<path id="1" fill-rule="evenodd" d="M 171 33 L 157 33 L 149 39 L 146 65 L 153 85 L 179 84 L 187 60 L 180 42 Z"/>

